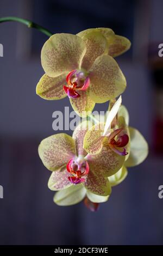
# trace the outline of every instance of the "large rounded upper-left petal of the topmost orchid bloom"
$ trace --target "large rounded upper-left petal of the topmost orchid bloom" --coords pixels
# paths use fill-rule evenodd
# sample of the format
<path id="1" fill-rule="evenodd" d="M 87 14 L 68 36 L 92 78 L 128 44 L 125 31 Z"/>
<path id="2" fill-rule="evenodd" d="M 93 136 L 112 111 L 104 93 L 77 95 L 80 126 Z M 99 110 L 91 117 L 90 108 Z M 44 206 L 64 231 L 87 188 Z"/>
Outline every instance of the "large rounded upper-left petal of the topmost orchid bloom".
<path id="1" fill-rule="evenodd" d="M 41 63 L 45 73 L 57 77 L 78 69 L 86 52 L 85 42 L 77 35 L 54 34 L 43 45 Z"/>

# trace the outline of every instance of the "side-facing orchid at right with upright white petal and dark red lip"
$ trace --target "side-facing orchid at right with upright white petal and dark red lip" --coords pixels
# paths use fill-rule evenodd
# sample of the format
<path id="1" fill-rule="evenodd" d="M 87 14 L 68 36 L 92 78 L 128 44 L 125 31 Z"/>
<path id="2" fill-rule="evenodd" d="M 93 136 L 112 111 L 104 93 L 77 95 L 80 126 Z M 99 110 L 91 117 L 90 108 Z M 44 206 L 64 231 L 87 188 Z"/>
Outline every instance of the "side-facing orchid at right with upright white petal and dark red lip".
<path id="1" fill-rule="evenodd" d="M 106 123 L 98 123 L 86 132 L 83 147 L 87 153 L 96 155 L 108 144 L 115 153 L 126 156 L 124 166 L 130 167 L 146 159 L 148 144 L 139 131 L 128 126 L 129 114 L 121 101 L 120 96 L 112 106 Z"/>

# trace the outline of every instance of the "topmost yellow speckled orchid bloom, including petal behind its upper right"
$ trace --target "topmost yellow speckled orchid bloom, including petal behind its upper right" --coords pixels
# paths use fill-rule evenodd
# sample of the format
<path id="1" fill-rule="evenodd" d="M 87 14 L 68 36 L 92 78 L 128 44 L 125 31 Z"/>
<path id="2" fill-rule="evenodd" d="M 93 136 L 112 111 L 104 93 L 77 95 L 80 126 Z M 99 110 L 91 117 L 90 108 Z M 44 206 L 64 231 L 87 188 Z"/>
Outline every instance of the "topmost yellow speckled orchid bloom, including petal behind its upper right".
<path id="1" fill-rule="evenodd" d="M 126 78 L 112 56 L 129 47 L 128 39 L 109 28 L 54 34 L 42 47 L 45 75 L 36 93 L 46 100 L 68 96 L 74 111 L 86 117 L 95 103 L 114 99 L 126 89 Z"/>

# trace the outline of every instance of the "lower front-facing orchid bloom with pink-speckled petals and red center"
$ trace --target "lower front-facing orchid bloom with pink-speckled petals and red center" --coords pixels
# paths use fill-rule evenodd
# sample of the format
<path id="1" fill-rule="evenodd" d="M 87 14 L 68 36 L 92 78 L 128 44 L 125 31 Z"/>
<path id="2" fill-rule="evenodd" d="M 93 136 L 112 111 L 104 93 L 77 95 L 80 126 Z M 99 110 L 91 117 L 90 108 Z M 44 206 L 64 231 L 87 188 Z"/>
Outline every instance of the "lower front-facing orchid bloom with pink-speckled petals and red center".
<path id="1" fill-rule="evenodd" d="M 78 200 L 78 190 L 80 198 L 87 196 L 90 199 L 92 196 L 97 200 L 107 200 L 111 193 L 108 176 L 120 170 L 125 160 L 108 145 L 96 157 L 86 153 L 83 139 L 91 126 L 89 123 L 80 123 L 72 137 L 59 133 L 43 139 L 39 145 L 39 156 L 47 169 L 52 171 L 48 187 L 53 191 L 68 188 L 76 191 L 72 204 Z"/>

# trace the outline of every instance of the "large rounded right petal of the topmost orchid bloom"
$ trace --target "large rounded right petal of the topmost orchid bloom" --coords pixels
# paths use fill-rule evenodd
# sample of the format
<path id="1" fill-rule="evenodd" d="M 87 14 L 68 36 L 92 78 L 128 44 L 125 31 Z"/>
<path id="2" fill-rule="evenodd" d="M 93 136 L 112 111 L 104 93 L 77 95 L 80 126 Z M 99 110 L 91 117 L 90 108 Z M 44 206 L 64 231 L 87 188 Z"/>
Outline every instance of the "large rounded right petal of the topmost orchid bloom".
<path id="1" fill-rule="evenodd" d="M 108 55 L 99 56 L 90 69 L 90 97 L 96 103 L 113 99 L 126 89 L 126 78 Z"/>

